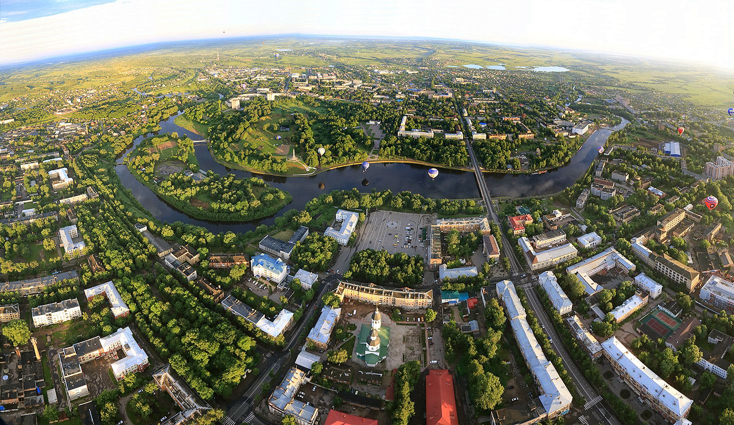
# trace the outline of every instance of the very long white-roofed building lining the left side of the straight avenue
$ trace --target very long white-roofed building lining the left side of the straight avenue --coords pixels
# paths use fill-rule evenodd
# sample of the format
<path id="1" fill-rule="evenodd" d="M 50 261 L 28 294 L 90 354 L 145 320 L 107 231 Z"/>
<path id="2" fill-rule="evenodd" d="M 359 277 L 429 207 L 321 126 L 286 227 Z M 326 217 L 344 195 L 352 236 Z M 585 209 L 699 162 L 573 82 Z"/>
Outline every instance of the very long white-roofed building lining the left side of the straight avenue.
<path id="1" fill-rule="evenodd" d="M 565 415 L 570 410 L 573 396 L 566 388 L 553 363 L 545 358 L 533 330 L 526 319 L 526 311 L 520 298 L 517 297 L 515 284 L 512 281 L 501 281 L 497 284 L 497 296 L 507 310 L 507 317 L 512 325 L 512 333 L 523 353 L 523 358 L 531 370 L 541 393 L 540 403 L 545 408 L 542 418 L 554 418 Z"/>

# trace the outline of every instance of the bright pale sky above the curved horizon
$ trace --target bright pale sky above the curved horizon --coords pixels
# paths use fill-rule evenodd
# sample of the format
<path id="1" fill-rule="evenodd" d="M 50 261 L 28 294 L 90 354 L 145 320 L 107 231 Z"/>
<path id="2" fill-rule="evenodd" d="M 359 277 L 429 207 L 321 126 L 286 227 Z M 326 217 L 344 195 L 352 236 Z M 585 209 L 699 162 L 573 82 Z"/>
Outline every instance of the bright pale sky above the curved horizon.
<path id="1" fill-rule="evenodd" d="M 0 64 L 277 34 L 434 37 L 734 71 L 733 0 L 0 0 Z"/>

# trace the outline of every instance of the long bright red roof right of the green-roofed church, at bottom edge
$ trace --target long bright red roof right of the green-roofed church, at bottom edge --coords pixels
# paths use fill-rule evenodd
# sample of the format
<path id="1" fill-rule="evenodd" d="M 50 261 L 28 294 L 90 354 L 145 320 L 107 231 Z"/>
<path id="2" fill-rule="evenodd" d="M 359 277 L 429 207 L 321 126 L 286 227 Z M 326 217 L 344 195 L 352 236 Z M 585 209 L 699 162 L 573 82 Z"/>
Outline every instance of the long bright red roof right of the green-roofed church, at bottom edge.
<path id="1" fill-rule="evenodd" d="M 431 369 L 426 376 L 426 425 L 459 425 L 454 377 L 446 369 Z"/>

